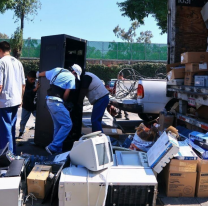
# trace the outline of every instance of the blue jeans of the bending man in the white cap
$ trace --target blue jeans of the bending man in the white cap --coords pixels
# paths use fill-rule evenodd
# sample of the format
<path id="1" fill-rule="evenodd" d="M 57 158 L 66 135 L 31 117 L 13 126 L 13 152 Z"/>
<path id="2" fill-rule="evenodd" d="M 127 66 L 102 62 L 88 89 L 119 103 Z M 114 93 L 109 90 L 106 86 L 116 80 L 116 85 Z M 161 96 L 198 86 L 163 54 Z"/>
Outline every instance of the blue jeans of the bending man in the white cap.
<path id="1" fill-rule="evenodd" d="M 53 141 L 48 145 L 52 152 L 62 152 L 63 142 L 72 128 L 70 113 L 63 103 L 46 100 L 54 126 Z"/>

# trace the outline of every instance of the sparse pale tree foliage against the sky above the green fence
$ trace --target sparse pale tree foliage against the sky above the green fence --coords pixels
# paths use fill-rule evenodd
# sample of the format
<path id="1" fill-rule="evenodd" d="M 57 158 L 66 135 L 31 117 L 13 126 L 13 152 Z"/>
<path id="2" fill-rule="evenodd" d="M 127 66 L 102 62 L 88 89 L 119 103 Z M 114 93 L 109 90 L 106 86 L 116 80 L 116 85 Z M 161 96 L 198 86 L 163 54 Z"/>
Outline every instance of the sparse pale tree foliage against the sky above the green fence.
<path id="1" fill-rule="evenodd" d="M 140 36 L 136 38 L 136 29 L 140 27 L 140 23 L 138 21 L 134 21 L 131 23 L 128 31 L 122 29 L 121 27 L 116 26 L 113 30 L 115 36 L 121 38 L 123 41 L 127 41 L 129 43 L 138 42 L 138 43 L 151 43 L 151 38 L 153 37 L 151 31 L 140 32 Z"/>

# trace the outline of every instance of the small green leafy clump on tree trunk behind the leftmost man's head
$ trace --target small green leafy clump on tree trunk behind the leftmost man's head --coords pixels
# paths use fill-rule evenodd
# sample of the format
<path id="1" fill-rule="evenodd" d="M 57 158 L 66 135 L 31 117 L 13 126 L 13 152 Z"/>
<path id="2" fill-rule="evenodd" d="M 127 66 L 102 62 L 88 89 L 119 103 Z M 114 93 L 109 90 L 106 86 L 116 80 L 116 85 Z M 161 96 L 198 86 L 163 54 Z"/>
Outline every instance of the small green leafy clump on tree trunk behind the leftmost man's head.
<path id="1" fill-rule="evenodd" d="M 11 36 L 10 45 L 13 56 L 19 59 L 21 56 L 22 46 L 23 46 L 22 30 L 19 27 Z"/>

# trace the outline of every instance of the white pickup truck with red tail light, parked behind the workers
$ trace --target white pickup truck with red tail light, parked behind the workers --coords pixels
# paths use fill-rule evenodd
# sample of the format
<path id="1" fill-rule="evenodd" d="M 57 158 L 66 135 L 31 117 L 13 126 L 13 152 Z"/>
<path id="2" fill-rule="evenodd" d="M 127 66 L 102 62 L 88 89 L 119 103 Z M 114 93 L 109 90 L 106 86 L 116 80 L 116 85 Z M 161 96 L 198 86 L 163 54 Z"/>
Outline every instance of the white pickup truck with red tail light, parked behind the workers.
<path id="1" fill-rule="evenodd" d="M 141 79 L 134 85 L 134 88 L 130 80 L 123 80 L 123 86 L 117 85 L 118 82 L 115 86 L 115 97 L 111 99 L 111 103 L 124 111 L 137 113 L 146 121 L 157 118 L 160 111 L 165 107 L 169 109 L 176 101 L 174 98 L 166 97 L 166 80 Z M 132 93 L 120 98 L 122 92 L 127 93 L 128 89 Z"/>

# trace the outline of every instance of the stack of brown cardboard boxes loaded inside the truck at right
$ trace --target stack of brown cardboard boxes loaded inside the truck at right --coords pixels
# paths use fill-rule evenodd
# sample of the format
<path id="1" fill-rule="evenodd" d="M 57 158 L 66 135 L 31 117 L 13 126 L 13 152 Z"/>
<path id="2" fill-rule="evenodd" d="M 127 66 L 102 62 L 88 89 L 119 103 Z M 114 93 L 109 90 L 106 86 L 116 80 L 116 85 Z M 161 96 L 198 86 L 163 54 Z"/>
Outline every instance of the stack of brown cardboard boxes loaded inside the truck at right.
<path id="1" fill-rule="evenodd" d="M 208 62 L 207 52 L 186 52 L 181 54 L 181 64 L 185 64 L 184 85 L 194 86 L 195 75 L 205 75 Z"/>

